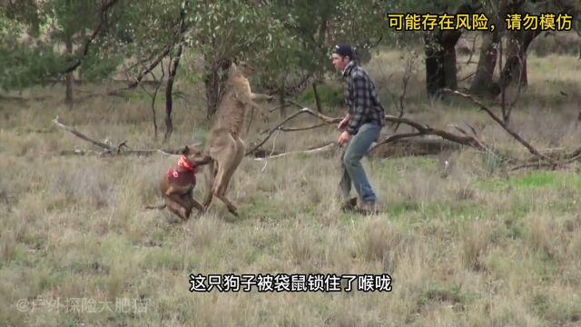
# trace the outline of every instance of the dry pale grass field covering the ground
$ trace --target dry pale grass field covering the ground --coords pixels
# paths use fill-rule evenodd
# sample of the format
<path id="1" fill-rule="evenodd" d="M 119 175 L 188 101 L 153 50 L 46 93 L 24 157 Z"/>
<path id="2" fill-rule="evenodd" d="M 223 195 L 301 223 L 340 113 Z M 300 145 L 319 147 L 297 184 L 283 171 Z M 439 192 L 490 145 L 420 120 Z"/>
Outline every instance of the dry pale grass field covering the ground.
<path id="1" fill-rule="evenodd" d="M 389 108 L 404 59 L 384 52 L 367 64 Z M 581 61 L 549 55 L 528 64 L 512 126 L 541 149 L 578 146 Z M 474 105 L 424 100 L 417 66 L 409 117 L 440 128 L 468 122 L 485 142 L 526 154 Z M 459 75 L 474 69 L 463 64 Z M 178 87 L 193 101 L 176 101 L 175 131 L 163 145 L 174 148 L 203 142 L 209 128 L 200 88 Z M 31 95 L 48 98 L 0 103 L 2 326 L 581 326 L 576 164 L 507 174 L 465 150 L 450 154 L 454 169 L 443 177 L 438 157 L 366 159 L 382 213 L 361 216 L 340 213 L 338 151 L 247 157 L 229 192 L 239 218 L 215 201 L 199 219 L 170 223 L 169 213 L 144 206 L 161 202 L 158 178 L 174 157 L 60 155 L 92 148 L 52 123 L 58 115 L 98 140 L 156 148 L 146 95 L 95 97 L 73 109 L 61 86 L 23 93 Z M 261 127 L 252 126 L 249 143 Z M 279 134 L 264 148 L 338 136 L 334 126 Z M 190 292 L 191 273 L 389 273 L 392 290 Z"/>

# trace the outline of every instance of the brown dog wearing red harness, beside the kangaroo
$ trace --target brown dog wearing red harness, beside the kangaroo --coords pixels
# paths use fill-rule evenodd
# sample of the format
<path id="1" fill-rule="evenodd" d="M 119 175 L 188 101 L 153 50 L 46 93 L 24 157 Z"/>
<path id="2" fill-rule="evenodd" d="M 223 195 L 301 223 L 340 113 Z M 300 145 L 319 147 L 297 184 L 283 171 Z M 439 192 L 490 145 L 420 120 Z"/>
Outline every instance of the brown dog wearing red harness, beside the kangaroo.
<path id="1" fill-rule="evenodd" d="M 186 146 L 177 165 L 170 168 L 160 181 L 160 191 L 162 191 L 165 204 L 153 208 L 163 209 L 167 206 L 172 213 L 175 213 L 182 220 L 190 218 L 193 208 L 196 208 L 199 213 L 203 213 L 202 204 L 193 198 L 192 193 L 196 186 L 197 167 L 210 163 L 210 161 L 208 155 L 191 150 Z M 148 209 L 153 208 L 148 207 Z"/>

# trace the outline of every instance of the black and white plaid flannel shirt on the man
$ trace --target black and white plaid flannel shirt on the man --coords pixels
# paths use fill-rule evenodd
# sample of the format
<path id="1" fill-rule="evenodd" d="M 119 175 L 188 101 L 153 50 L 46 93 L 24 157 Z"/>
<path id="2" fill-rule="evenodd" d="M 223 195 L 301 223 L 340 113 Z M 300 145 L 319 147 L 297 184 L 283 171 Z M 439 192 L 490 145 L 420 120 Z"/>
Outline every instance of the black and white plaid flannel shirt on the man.
<path id="1" fill-rule="evenodd" d="M 379 103 L 378 91 L 373 82 L 359 65 L 351 61 L 343 76 L 346 78 L 345 100 L 349 106 L 349 124 L 347 132 L 357 134 L 362 124 L 385 125 L 383 106 Z"/>

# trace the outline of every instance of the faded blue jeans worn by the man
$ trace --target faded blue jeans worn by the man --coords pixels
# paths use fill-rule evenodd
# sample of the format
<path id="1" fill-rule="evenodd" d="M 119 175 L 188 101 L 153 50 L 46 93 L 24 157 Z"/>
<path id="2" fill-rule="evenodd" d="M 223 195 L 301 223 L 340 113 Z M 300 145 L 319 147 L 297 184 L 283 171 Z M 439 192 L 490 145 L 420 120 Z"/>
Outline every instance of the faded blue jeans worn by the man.
<path id="1" fill-rule="evenodd" d="M 342 170 L 340 189 L 345 198 L 349 198 L 353 183 L 361 201 L 377 203 L 377 196 L 363 170 L 361 158 L 378 139 L 380 130 L 381 127 L 377 124 L 363 124 L 359 127 L 358 133 L 351 135 L 349 142 L 344 145 L 344 151 L 340 155 Z"/>

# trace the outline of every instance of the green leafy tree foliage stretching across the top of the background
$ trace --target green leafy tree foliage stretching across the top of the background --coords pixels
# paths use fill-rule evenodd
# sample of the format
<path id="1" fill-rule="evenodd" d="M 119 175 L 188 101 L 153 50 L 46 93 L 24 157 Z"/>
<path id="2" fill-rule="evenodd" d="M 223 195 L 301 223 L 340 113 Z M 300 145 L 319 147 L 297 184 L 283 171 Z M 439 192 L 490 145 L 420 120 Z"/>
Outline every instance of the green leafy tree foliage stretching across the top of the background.
<path id="1" fill-rule="evenodd" d="M 221 66 L 223 73 L 225 64 L 241 59 L 261 67 L 256 76 L 259 84 L 280 86 L 291 75 L 331 73 L 330 49 L 338 43 L 354 45 L 359 62 L 364 63 L 376 45 L 421 42 L 423 32 L 389 29 L 389 14 L 453 13 L 467 4 L 461 0 L 118 0 L 102 15 L 104 3 L 20 0 L 0 5 L 0 86 L 18 89 L 54 79 L 67 63 L 82 56 L 80 50 L 102 19 L 103 28 L 79 68 L 84 79 L 110 76 L 120 65 L 129 74 L 144 74 L 148 65 L 159 63 L 182 45 L 187 54 L 202 58 L 204 78 L 221 71 Z M 482 5 L 479 12 L 488 17 L 497 13 L 500 3 L 468 0 L 470 5 Z M 547 7 L 538 7 L 545 3 Z M 530 0 L 527 5 L 535 12 L 579 11 L 576 0 Z M 579 30 L 578 20 L 574 25 Z M 73 43 L 74 53 L 64 54 L 67 42 Z M 181 70 L 178 76 L 192 80 L 196 73 Z"/>

